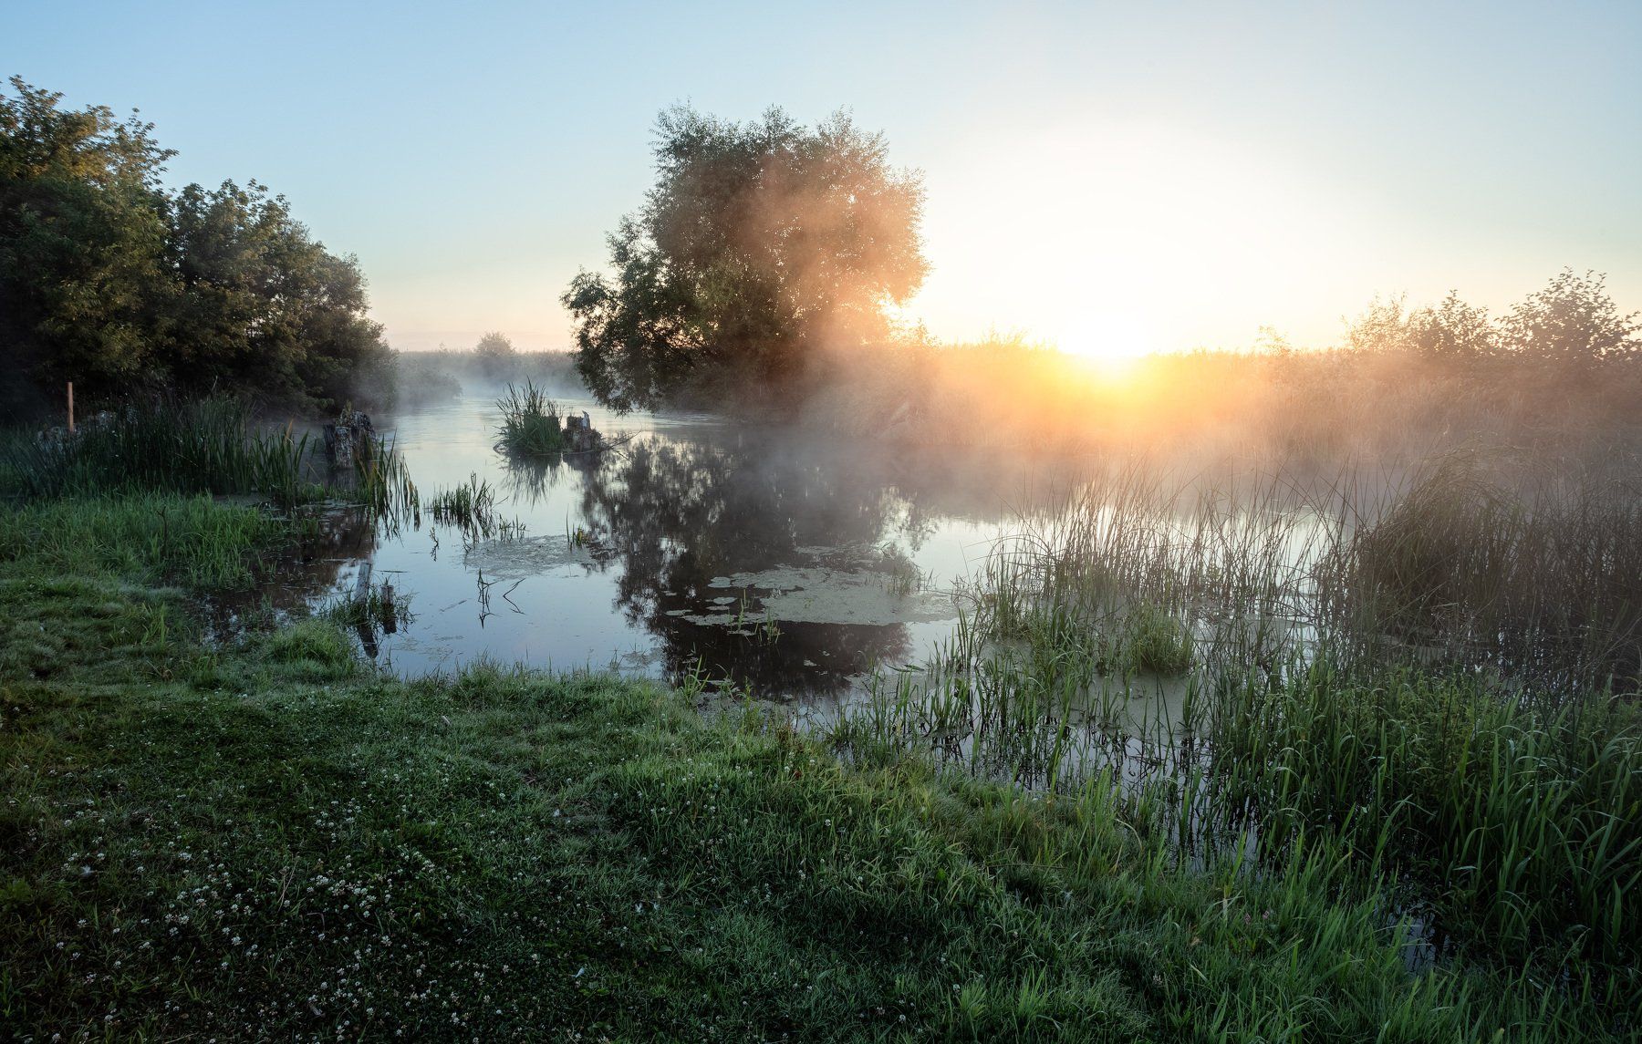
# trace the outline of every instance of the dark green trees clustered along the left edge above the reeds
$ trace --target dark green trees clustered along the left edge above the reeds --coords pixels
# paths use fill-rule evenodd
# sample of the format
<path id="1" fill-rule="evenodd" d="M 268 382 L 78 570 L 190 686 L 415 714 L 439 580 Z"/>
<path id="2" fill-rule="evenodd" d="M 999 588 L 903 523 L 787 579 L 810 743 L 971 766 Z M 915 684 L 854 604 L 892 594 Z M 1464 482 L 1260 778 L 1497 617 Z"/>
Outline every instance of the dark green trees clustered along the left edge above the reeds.
<path id="1" fill-rule="evenodd" d="M 161 184 L 174 154 L 136 115 L 0 92 L 0 409 L 64 381 L 90 397 L 163 387 L 335 409 L 391 381 L 365 277 L 258 182 Z"/>

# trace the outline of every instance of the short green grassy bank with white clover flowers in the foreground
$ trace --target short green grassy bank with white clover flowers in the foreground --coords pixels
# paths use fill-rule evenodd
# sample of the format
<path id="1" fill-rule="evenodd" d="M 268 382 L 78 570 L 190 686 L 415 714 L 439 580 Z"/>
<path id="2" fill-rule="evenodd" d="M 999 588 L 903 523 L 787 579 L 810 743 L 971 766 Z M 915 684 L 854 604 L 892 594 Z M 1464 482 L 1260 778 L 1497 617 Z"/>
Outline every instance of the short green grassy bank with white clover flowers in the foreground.
<path id="1" fill-rule="evenodd" d="M 0 515 L 0 1024 L 49 1039 L 1588 1039 L 1624 1013 L 1410 970 L 1327 849 L 1194 868 L 1102 780 L 846 768 L 688 693 L 401 683 L 330 622 L 200 642 L 209 501 Z M 77 517 L 225 535 L 69 560 Z M 30 515 L 28 512 L 36 512 Z M 61 512 L 46 517 L 38 512 Z M 578 1036 L 580 1034 L 580 1036 Z"/>

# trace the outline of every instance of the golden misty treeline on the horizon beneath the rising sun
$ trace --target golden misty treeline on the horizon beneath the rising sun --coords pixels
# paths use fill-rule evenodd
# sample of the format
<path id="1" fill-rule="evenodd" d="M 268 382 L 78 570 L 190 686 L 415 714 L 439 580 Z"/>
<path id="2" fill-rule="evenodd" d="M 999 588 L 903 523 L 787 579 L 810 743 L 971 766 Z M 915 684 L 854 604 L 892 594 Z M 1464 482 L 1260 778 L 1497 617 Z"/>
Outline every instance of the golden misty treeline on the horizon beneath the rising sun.
<path id="1" fill-rule="evenodd" d="M 1450 294 L 1376 300 L 1328 348 L 1268 332 L 1246 350 L 1133 361 L 1125 373 L 1021 335 L 824 353 L 803 417 L 900 445 L 1010 451 L 1217 443 L 1396 453 L 1626 438 L 1642 443 L 1642 327 L 1603 277 L 1563 271 L 1502 317 Z"/>

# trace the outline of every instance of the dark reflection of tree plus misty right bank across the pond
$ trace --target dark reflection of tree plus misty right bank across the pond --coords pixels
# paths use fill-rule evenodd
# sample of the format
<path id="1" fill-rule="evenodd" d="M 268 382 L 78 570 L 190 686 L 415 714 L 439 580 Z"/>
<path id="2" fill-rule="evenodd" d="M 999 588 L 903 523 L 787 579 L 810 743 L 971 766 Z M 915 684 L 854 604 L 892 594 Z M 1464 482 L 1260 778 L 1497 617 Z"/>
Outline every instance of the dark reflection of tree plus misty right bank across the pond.
<path id="1" fill-rule="evenodd" d="M 585 568 L 617 571 L 616 607 L 662 640 L 670 676 L 699 663 L 765 698 L 839 696 L 875 665 L 923 652 L 906 624 L 777 619 L 772 630 L 760 627 L 767 591 L 711 581 L 783 566 L 859 576 L 883 568 L 878 548 L 916 552 L 944 519 L 1000 522 L 1020 509 L 1008 492 L 1023 476 L 997 461 L 862 455 L 755 428 L 714 435 L 652 433 L 617 451 L 519 463 L 504 483 L 532 506 L 580 478 L 581 517 L 566 519 L 566 537 L 594 542 Z M 742 606 L 742 625 L 686 619 Z"/>

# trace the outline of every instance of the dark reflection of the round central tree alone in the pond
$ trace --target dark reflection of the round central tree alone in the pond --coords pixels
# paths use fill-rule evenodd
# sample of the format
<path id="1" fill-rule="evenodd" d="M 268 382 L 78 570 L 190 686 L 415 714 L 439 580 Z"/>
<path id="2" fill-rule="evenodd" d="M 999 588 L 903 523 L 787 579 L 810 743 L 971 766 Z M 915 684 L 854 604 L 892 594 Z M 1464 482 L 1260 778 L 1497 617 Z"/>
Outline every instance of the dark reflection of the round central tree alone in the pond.
<path id="1" fill-rule="evenodd" d="M 767 591 L 726 579 L 818 560 L 862 568 L 905 514 L 905 497 L 847 460 L 755 456 L 745 440 L 647 440 L 606 455 L 581 488 L 581 517 L 619 568 L 616 606 L 662 639 L 667 670 L 699 665 L 767 694 L 839 693 L 906 658 L 906 625 L 783 622 L 762 607 Z"/>

